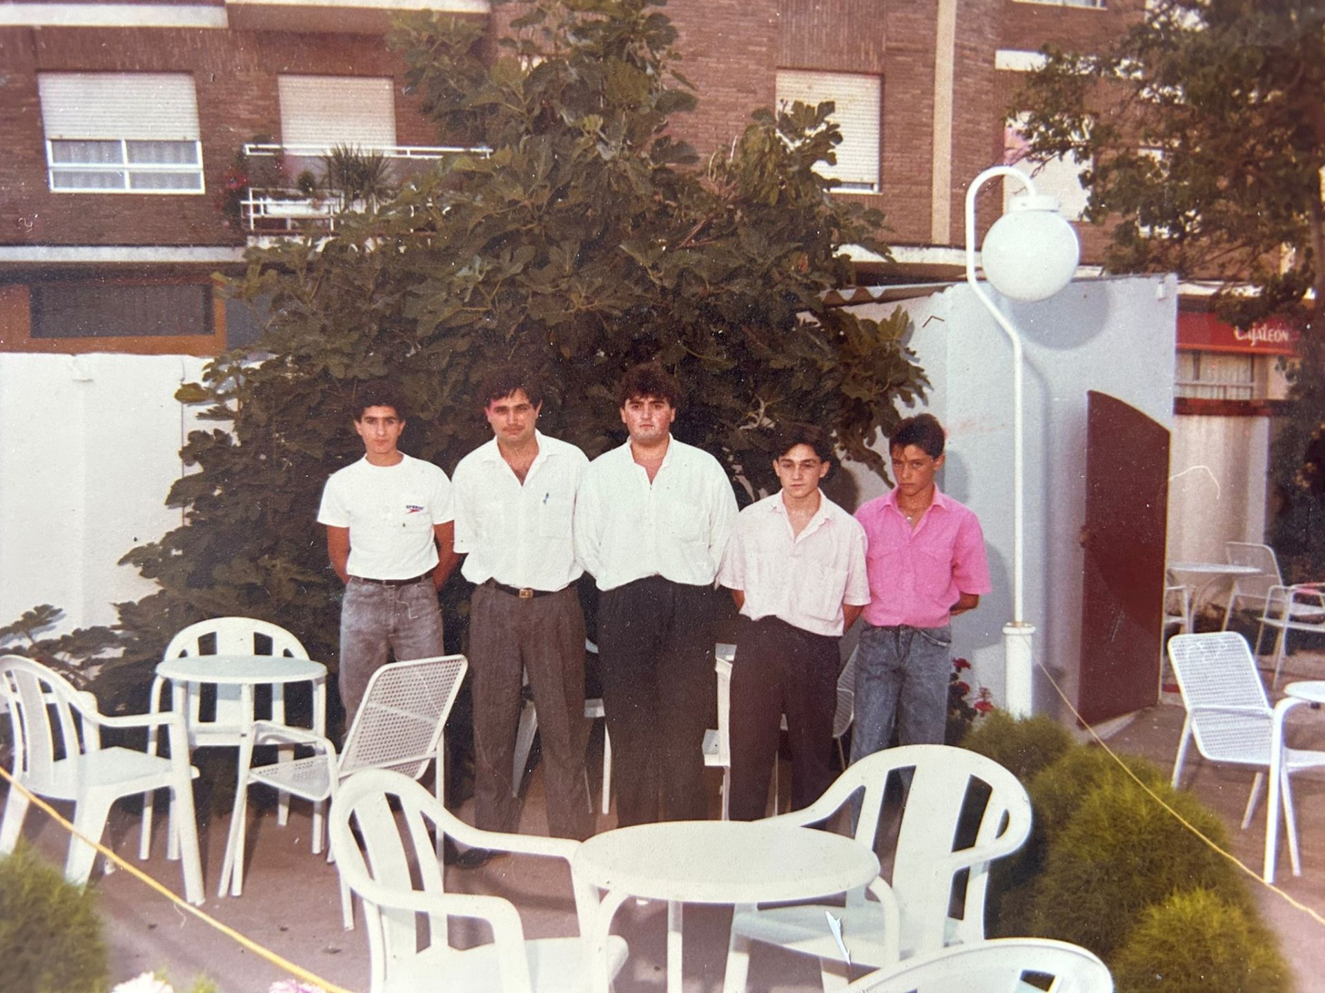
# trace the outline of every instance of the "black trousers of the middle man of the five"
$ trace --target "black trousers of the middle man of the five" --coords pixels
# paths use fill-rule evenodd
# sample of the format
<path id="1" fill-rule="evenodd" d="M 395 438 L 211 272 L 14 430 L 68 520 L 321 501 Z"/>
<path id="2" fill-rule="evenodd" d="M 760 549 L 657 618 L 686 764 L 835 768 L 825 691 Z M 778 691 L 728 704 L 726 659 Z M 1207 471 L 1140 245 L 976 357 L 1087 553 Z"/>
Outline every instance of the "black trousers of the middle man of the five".
<path id="1" fill-rule="evenodd" d="M 598 651 L 617 825 L 704 820 L 714 726 L 713 597 L 661 576 L 603 593 Z"/>

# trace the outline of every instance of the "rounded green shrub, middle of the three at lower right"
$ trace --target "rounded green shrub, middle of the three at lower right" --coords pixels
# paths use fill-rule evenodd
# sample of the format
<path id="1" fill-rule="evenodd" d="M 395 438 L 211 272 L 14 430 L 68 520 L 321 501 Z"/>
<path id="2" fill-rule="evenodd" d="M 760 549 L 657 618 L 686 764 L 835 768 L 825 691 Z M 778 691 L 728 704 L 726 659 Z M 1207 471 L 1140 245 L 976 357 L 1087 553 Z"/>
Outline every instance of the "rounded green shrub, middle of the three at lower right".
<path id="1" fill-rule="evenodd" d="M 1194 797 L 1157 790 L 1187 824 L 1227 849 L 1223 825 Z M 1251 910 L 1234 866 L 1130 779 L 1097 784 L 1048 849 L 1035 883 L 1031 933 L 1085 945 L 1108 959 L 1141 914 L 1204 887 Z"/>

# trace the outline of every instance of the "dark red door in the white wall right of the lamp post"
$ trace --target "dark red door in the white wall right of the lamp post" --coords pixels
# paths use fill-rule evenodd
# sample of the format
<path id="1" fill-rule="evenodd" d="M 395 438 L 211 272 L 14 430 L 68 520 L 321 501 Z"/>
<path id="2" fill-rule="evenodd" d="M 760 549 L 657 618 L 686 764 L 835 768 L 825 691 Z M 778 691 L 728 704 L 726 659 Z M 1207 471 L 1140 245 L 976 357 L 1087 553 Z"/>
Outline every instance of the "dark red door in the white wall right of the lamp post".
<path id="1" fill-rule="evenodd" d="M 1169 430 L 1090 391 L 1085 473 L 1077 710 L 1094 724 L 1158 698 Z"/>

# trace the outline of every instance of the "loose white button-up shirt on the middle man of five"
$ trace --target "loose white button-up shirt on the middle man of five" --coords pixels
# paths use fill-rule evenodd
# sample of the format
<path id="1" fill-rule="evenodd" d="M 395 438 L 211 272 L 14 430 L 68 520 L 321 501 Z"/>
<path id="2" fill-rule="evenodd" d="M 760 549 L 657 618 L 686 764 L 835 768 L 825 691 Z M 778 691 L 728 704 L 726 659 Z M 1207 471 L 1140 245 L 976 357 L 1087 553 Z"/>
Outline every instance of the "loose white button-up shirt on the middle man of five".
<path id="1" fill-rule="evenodd" d="M 669 437 L 649 483 L 627 441 L 584 473 L 575 502 L 575 549 L 602 591 L 647 576 L 706 587 L 718 573 L 735 518 L 731 482 L 708 451 Z"/>

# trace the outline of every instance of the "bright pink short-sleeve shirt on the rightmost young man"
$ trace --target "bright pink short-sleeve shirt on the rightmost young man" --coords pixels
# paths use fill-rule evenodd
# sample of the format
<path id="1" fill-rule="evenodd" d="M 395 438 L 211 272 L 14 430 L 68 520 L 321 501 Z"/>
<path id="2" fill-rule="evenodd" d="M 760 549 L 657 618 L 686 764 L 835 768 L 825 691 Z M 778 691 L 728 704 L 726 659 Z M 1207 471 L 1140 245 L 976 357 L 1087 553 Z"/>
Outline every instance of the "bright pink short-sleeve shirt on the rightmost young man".
<path id="1" fill-rule="evenodd" d="M 897 510 L 897 490 L 861 504 L 856 520 L 869 542 L 868 624 L 942 628 L 962 593 L 990 592 L 980 522 L 938 487 L 914 530 Z"/>

